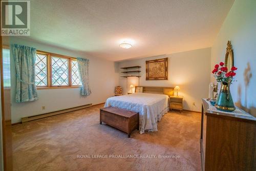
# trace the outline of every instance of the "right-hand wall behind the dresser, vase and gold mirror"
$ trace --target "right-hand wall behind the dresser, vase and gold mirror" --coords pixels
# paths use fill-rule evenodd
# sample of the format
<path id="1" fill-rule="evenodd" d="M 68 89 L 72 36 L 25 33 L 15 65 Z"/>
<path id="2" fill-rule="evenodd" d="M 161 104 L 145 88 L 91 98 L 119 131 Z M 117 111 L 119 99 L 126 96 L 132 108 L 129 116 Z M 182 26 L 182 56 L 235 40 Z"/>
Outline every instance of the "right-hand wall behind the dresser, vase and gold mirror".
<path id="1" fill-rule="evenodd" d="M 235 1 L 211 49 L 211 67 L 225 60 L 226 44 L 231 40 L 234 66 L 238 68 L 231 87 L 234 102 L 251 114 L 256 108 L 256 1 Z M 250 68 L 252 77 L 245 81 L 245 72 Z M 211 78 L 214 80 L 214 78 Z M 246 82 L 248 84 L 246 84 Z M 246 86 L 247 85 L 247 86 Z"/>

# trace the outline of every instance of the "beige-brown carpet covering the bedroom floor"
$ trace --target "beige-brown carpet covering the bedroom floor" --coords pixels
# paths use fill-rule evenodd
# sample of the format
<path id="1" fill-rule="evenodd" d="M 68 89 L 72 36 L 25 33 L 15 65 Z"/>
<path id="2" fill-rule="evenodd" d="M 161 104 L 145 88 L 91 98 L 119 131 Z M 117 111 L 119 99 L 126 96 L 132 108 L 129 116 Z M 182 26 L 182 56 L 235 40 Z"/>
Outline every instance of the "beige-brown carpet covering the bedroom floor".
<path id="1" fill-rule="evenodd" d="M 127 138 L 99 124 L 102 106 L 14 125 L 14 170 L 200 170 L 199 113 L 169 112 L 158 132 Z"/>

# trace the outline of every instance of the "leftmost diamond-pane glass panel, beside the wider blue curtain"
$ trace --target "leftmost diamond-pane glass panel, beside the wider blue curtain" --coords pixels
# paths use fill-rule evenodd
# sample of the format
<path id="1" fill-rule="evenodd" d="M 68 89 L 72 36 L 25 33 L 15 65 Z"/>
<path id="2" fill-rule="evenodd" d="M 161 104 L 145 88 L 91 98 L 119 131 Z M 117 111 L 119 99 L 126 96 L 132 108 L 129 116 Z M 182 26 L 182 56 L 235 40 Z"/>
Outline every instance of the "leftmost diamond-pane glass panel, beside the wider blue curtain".
<path id="1" fill-rule="evenodd" d="M 35 85 L 47 86 L 47 55 L 36 54 L 35 58 Z"/>

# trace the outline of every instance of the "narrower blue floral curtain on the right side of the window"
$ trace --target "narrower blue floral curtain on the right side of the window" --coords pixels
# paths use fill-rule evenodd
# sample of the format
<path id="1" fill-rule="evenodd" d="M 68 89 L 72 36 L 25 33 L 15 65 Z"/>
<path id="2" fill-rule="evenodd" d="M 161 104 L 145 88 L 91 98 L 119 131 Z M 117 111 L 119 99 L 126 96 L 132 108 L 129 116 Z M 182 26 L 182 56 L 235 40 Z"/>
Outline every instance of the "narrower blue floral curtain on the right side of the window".
<path id="1" fill-rule="evenodd" d="M 88 66 L 89 59 L 77 58 L 78 71 L 80 74 L 80 79 L 82 82 L 81 95 L 90 95 L 91 89 L 89 87 L 89 78 L 88 78 Z"/>

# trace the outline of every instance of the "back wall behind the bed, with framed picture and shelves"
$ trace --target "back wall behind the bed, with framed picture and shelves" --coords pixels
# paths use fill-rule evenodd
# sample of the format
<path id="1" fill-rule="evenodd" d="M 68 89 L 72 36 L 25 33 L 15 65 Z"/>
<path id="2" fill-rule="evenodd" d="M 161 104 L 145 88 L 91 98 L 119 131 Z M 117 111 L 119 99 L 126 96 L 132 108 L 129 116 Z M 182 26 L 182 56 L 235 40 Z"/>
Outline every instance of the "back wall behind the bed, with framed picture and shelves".
<path id="1" fill-rule="evenodd" d="M 140 86 L 159 86 L 181 88 L 179 96 L 184 96 L 184 109 L 191 111 L 201 110 L 201 98 L 208 97 L 210 83 L 210 48 L 193 51 L 148 57 L 119 62 L 119 67 L 141 66 Z M 168 80 L 146 80 L 145 61 L 168 57 Z M 137 77 L 119 77 L 119 84 L 123 87 L 123 93 L 131 91 L 130 84 L 138 85 Z M 193 106 L 193 102 L 196 105 Z"/>

